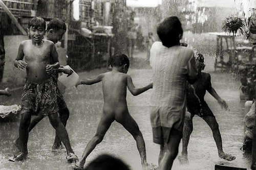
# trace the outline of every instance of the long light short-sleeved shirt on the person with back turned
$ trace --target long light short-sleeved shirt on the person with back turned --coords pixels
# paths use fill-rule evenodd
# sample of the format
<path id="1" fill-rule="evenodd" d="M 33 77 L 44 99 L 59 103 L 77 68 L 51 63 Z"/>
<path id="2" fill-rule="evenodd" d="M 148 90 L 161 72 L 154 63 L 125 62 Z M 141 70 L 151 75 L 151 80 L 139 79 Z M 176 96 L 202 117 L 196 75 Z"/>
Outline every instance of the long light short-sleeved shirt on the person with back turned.
<path id="1" fill-rule="evenodd" d="M 154 84 L 150 100 L 151 125 L 153 128 L 174 127 L 182 131 L 186 111 L 186 80 L 197 77 L 194 51 L 181 45 L 166 47 L 162 42 L 155 42 L 151 47 L 150 64 Z M 168 107 L 168 111 L 160 112 L 157 109 L 160 107 Z"/>

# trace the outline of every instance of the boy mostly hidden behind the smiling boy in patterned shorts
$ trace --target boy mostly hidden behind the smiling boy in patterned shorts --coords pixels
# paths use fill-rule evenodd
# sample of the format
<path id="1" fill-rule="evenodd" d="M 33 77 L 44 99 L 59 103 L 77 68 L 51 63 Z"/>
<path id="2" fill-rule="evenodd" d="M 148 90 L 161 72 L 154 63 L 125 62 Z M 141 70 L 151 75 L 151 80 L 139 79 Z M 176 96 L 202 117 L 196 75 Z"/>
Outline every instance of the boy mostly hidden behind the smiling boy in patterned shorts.
<path id="1" fill-rule="evenodd" d="M 66 23 L 62 21 L 59 18 L 53 18 L 50 20 L 50 22 L 47 25 L 46 30 L 46 39 L 52 41 L 54 44 L 57 43 L 59 40 L 61 40 L 62 36 L 65 34 L 67 30 Z M 72 70 L 71 69 L 65 69 L 63 67 L 59 67 L 56 69 L 56 80 L 58 79 L 58 72 L 63 72 L 64 74 L 71 75 Z M 57 103 L 59 107 L 59 118 L 61 123 L 66 127 L 68 119 L 69 119 L 69 109 L 67 107 L 67 104 L 64 100 L 64 97 L 62 93 L 60 92 L 58 86 L 57 86 Z M 39 112 L 38 116 L 33 116 L 31 119 L 31 123 L 29 126 L 29 132 L 36 126 L 37 123 L 40 122 L 41 119 L 44 118 L 44 115 Z M 20 142 L 19 138 L 15 139 L 13 143 L 18 147 L 18 143 Z M 52 146 L 52 149 L 60 149 L 62 147 L 61 140 L 56 133 L 55 140 Z"/>

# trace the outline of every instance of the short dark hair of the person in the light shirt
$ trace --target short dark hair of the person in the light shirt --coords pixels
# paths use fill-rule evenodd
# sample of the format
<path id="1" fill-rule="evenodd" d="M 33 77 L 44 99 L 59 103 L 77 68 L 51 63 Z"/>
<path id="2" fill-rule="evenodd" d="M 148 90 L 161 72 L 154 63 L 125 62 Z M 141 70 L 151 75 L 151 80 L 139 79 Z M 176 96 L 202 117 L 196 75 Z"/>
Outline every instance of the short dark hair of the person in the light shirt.
<path id="1" fill-rule="evenodd" d="M 181 22 L 177 16 L 164 18 L 157 25 L 157 35 L 166 47 L 179 44 L 179 35 L 183 35 Z"/>

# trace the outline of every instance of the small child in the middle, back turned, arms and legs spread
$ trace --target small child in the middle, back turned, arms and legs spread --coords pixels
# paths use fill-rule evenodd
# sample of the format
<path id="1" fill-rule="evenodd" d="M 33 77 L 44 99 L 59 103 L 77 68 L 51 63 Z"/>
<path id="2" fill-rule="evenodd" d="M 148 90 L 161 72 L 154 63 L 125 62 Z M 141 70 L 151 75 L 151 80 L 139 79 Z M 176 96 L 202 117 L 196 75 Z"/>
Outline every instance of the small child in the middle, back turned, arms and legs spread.
<path id="1" fill-rule="evenodd" d="M 78 161 L 73 168 L 83 168 L 89 154 L 94 150 L 96 145 L 103 140 L 106 131 L 108 131 L 111 124 L 116 120 L 116 122 L 120 123 L 130 132 L 136 140 L 143 169 L 150 169 L 153 165 L 146 162 L 145 142 L 142 133 L 127 108 L 126 88 L 128 87 L 133 95 L 138 95 L 152 88 L 153 84 L 148 84 L 142 88 L 136 88 L 134 86 L 131 76 L 126 74 L 130 62 L 128 57 L 124 54 L 115 54 L 111 58 L 110 63 L 112 71 L 100 74 L 93 79 L 79 80 L 76 84 L 76 86 L 80 84 L 92 85 L 102 81 L 104 106 L 97 132 L 87 144 L 80 161 Z"/>

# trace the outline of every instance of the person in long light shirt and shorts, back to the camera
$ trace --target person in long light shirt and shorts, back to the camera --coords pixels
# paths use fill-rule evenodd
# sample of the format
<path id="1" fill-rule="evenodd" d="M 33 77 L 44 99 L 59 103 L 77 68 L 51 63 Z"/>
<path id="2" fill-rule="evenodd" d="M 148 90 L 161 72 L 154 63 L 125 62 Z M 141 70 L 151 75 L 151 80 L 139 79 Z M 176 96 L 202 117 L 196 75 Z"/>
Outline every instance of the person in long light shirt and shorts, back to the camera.
<path id="1" fill-rule="evenodd" d="M 178 155 L 186 111 L 186 81 L 197 77 L 194 51 L 182 46 L 183 29 L 176 16 L 163 19 L 157 26 L 161 42 L 150 51 L 153 92 L 150 118 L 153 141 L 160 144 L 159 170 L 169 170 Z"/>

